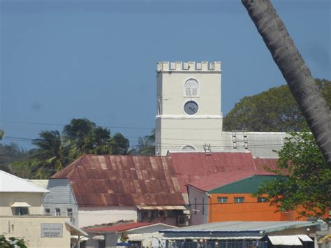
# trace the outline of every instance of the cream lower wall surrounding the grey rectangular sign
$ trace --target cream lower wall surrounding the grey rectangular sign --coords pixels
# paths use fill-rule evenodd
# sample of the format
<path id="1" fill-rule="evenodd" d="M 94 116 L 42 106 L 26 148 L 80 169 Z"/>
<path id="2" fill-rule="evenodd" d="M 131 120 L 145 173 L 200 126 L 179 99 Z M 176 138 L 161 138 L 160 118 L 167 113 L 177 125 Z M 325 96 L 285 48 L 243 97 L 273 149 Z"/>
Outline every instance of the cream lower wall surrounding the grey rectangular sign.
<path id="1" fill-rule="evenodd" d="M 8 237 L 24 238 L 29 248 L 68 248 L 70 247 L 70 231 L 65 221 L 67 217 L 46 216 L 0 216 L 0 233 Z M 61 238 L 41 238 L 41 224 L 62 224 Z"/>

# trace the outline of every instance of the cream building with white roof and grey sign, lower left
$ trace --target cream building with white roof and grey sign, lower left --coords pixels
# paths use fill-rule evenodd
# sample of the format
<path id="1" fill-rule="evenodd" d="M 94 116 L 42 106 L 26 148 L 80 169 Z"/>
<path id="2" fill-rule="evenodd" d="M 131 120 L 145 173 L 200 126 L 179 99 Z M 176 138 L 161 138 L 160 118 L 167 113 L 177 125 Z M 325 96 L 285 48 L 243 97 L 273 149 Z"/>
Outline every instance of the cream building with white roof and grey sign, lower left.
<path id="1" fill-rule="evenodd" d="M 44 214 L 43 199 L 49 192 L 27 180 L 0 170 L 0 235 L 24 238 L 27 246 L 70 247 L 72 235 L 87 235 L 66 216 Z"/>

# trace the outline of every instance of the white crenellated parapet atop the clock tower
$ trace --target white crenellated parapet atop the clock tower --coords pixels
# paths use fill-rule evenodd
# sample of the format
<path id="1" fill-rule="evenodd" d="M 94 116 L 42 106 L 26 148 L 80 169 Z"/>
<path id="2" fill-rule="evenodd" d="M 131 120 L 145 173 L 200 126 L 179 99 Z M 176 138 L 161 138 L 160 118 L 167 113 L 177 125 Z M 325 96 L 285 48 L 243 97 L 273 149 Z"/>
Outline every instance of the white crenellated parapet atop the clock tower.
<path id="1" fill-rule="evenodd" d="M 203 72 L 221 72 L 221 62 L 170 62 L 170 61 L 162 61 L 157 63 L 157 72 L 170 72 L 170 71 L 203 71 Z"/>

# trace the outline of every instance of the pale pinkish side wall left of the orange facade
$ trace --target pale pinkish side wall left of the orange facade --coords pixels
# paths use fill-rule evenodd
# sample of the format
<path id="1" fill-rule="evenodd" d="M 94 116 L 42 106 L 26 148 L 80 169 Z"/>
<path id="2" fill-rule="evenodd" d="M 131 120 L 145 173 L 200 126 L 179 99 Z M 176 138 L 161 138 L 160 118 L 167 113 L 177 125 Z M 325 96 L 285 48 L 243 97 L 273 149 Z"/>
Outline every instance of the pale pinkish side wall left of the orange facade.
<path id="1" fill-rule="evenodd" d="M 191 205 L 191 225 L 205 224 L 208 221 L 209 205 L 207 194 L 193 187 L 188 187 Z M 204 200 L 203 200 L 204 199 Z M 203 203 L 205 203 L 203 207 Z M 204 208 L 204 210 L 203 210 Z"/>

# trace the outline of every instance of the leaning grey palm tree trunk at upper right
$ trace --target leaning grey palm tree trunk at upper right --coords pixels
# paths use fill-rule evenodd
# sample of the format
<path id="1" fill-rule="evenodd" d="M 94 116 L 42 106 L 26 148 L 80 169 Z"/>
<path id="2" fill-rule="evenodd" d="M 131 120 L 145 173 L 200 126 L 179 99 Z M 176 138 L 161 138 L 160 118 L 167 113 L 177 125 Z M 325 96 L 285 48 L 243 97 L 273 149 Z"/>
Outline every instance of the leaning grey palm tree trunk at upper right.
<path id="1" fill-rule="evenodd" d="M 270 0 L 242 0 L 331 167 L 331 115 L 309 68 Z"/>

